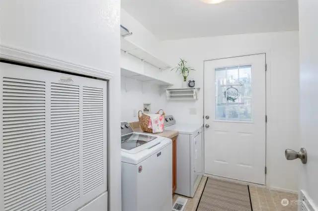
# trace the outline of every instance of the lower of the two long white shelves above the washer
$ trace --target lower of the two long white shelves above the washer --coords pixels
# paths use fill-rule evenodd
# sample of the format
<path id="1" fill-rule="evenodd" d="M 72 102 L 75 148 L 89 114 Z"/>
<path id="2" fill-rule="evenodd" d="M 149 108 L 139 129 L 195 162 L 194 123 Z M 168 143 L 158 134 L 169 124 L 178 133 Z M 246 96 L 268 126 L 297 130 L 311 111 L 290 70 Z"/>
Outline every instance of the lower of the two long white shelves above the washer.
<path id="1" fill-rule="evenodd" d="M 138 81 L 149 81 L 149 82 L 161 85 L 161 86 L 171 86 L 172 85 L 168 81 L 164 81 L 164 80 L 158 79 L 158 78 L 156 78 L 154 76 L 137 73 L 137 72 L 134 72 L 134 71 L 131 71 L 131 70 L 127 70 L 127 69 L 124 69 L 124 68 L 121 68 L 120 73 L 121 73 L 121 76 L 124 76 L 126 78 L 135 79 L 135 80 L 138 80 Z"/>

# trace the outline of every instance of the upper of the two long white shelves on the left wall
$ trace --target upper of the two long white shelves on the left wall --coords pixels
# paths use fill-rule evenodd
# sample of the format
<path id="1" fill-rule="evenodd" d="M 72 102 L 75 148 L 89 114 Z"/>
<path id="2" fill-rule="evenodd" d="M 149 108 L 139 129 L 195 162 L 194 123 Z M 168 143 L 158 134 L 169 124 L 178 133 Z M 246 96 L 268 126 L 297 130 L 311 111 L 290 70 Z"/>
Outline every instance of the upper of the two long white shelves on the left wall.
<path id="1" fill-rule="evenodd" d="M 140 48 L 134 43 L 128 41 L 124 37 L 121 37 L 120 40 L 121 40 L 120 49 L 124 51 L 125 53 L 132 54 L 136 56 L 137 58 L 140 58 L 141 60 L 144 60 L 160 69 L 170 68 L 169 64 L 165 63 L 164 61 L 160 60 L 156 56 Z"/>

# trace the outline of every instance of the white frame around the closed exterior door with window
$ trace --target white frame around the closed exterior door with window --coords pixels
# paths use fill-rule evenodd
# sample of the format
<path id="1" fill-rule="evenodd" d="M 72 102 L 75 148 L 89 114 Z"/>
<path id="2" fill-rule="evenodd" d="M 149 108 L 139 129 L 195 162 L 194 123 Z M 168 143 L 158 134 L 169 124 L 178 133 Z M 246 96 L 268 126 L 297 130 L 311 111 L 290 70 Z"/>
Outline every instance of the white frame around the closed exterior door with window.
<path id="1" fill-rule="evenodd" d="M 265 54 L 265 68 L 266 68 L 266 71 L 265 71 L 265 115 L 266 115 L 266 120 L 267 120 L 267 77 L 268 77 L 268 71 L 269 71 L 269 66 L 267 65 L 267 59 L 268 59 L 268 53 L 264 52 L 264 53 L 252 53 L 252 54 L 244 54 L 244 55 L 237 55 L 237 56 L 230 56 L 230 57 L 221 57 L 221 58 L 214 58 L 214 59 L 206 59 L 206 60 L 203 60 L 203 87 L 204 87 L 204 79 L 205 79 L 205 69 L 204 69 L 204 62 L 205 61 L 213 61 L 213 60 L 219 60 L 219 59 L 226 59 L 226 58 L 235 58 L 235 57 L 243 57 L 243 56 L 249 56 L 249 55 L 258 55 L 258 54 Z M 203 96 L 204 96 L 204 89 L 203 89 Z M 204 101 L 205 101 L 205 98 L 203 97 L 203 119 L 204 119 Z M 267 169 L 267 121 L 266 121 L 266 124 L 265 124 L 265 169 L 264 169 L 264 173 L 265 173 L 265 184 L 264 185 L 261 185 L 261 184 L 256 184 L 256 183 L 252 183 L 252 182 L 247 182 L 247 181 L 242 181 L 242 180 L 238 180 L 238 179 L 232 179 L 232 178 L 227 178 L 227 177 L 222 177 L 222 176 L 216 176 L 216 175 L 212 175 L 212 174 L 206 174 L 204 173 L 205 172 L 205 169 L 204 169 L 204 162 L 205 162 L 205 159 L 204 159 L 204 144 L 205 144 L 205 141 L 204 141 L 204 131 L 205 131 L 205 127 L 204 127 L 204 124 L 203 124 L 203 152 L 202 152 L 202 156 L 203 156 L 203 176 L 206 176 L 206 177 L 211 177 L 211 178 L 220 178 L 220 179 L 223 179 L 223 180 L 228 180 L 228 181 L 235 181 L 236 183 L 240 183 L 240 184 L 253 184 L 254 186 L 259 186 L 259 187 L 263 187 L 263 186 L 267 186 L 267 175 L 265 173 L 265 169 Z"/>

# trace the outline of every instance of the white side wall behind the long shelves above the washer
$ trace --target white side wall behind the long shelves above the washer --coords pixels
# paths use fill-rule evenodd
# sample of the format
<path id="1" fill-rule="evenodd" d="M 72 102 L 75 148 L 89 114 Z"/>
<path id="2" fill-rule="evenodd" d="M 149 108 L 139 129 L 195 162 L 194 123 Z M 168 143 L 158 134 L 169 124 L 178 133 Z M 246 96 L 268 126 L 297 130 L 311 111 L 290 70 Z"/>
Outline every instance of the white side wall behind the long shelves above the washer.
<path id="1" fill-rule="evenodd" d="M 144 49 L 145 51 L 162 57 L 161 41 L 148 31 L 134 17 L 121 9 L 121 24 L 133 33 L 132 36 L 125 39 Z M 150 75 L 158 79 L 164 79 L 164 71 L 153 65 L 142 62 L 141 59 L 121 52 L 121 68 L 131 70 L 136 73 Z M 167 80 L 165 80 L 167 81 Z M 121 78 L 121 120 L 128 122 L 138 121 L 136 111 L 143 111 L 144 103 L 151 104 L 151 113 L 159 109 L 165 109 L 166 98 L 164 88 L 153 82 L 141 82 L 126 77 Z"/>

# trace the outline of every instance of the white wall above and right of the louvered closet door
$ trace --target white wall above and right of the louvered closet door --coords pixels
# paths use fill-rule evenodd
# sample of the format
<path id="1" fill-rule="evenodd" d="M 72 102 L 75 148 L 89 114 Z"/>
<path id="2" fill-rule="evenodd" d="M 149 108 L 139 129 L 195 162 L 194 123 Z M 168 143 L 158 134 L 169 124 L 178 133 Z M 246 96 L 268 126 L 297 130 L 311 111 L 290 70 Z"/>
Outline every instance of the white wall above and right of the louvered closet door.
<path id="1" fill-rule="evenodd" d="M 120 211 L 120 0 L 0 0 L 0 8 L 1 57 L 15 49 L 15 60 L 109 73 L 108 202 Z"/>

